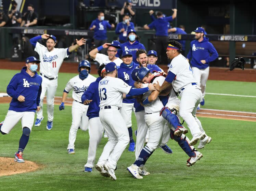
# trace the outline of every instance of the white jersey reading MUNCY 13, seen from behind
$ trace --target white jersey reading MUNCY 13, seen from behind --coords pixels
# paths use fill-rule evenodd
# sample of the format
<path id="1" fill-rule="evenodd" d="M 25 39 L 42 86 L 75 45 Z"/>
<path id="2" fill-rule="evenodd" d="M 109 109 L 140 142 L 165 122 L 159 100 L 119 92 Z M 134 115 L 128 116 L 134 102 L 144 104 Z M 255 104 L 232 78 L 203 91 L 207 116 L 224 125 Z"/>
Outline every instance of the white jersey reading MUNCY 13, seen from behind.
<path id="1" fill-rule="evenodd" d="M 123 93 L 128 94 L 131 86 L 123 80 L 106 76 L 99 83 L 100 107 L 113 105 L 122 106 Z"/>

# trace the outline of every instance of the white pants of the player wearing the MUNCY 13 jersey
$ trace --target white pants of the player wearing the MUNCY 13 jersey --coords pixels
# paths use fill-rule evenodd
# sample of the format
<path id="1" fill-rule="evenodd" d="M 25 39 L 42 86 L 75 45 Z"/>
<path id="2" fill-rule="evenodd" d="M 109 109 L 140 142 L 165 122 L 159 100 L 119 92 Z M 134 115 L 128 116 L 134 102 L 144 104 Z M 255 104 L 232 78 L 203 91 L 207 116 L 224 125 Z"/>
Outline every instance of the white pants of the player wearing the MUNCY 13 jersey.
<path id="1" fill-rule="evenodd" d="M 116 106 L 111 106 L 111 109 L 101 107 L 99 116 L 108 135 L 108 142 L 98 163 L 101 165 L 107 163 L 115 169 L 118 159 L 130 141 L 129 132 L 125 120 Z"/>

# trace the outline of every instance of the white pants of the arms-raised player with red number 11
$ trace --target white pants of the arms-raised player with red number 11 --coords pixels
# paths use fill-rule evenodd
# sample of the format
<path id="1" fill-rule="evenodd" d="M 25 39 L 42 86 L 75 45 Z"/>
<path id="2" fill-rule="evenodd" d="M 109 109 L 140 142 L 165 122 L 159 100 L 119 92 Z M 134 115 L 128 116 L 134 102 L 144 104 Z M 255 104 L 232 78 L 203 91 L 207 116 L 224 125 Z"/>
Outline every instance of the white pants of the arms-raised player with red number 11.
<path id="1" fill-rule="evenodd" d="M 37 112 L 37 119 L 41 119 L 43 117 L 43 98 L 46 94 L 46 102 L 47 102 L 47 115 L 48 121 L 53 121 L 53 112 L 54 112 L 54 96 L 58 86 L 58 80 L 53 79 L 49 80 L 42 76 L 42 92 L 40 96 L 40 111 Z"/>

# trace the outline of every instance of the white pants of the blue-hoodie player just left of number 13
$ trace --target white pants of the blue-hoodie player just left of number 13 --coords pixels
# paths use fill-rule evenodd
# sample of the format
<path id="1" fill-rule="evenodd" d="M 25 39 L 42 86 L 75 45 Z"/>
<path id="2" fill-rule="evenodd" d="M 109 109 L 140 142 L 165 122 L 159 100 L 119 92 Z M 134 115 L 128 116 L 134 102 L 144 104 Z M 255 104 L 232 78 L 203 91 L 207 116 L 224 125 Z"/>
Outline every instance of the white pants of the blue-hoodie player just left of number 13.
<path id="1" fill-rule="evenodd" d="M 99 117 L 93 117 L 89 119 L 89 148 L 88 148 L 88 158 L 85 167 L 93 167 L 95 157 L 96 157 L 96 150 L 101 141 L 101 137 L 104 131 L 104 128 L 100 122 Z"/>

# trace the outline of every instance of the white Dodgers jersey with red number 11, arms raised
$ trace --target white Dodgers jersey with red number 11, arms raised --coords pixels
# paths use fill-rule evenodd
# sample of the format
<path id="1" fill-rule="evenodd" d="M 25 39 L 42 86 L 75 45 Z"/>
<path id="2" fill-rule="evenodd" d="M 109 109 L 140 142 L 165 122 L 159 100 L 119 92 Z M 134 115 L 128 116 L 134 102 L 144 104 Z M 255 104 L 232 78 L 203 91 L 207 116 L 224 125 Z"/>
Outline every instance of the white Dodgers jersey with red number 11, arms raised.
<path id="1" fill-rule="evenodd" d="M 35 51 L 39 54 L 40 73 L 47 77 L 57 77 L 61 64 L 67 55 L 68 48 L 54 48 L 51 52 L 39 42 L 36 43 Z"/>

